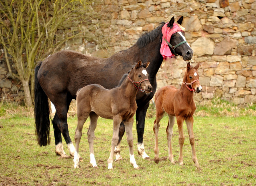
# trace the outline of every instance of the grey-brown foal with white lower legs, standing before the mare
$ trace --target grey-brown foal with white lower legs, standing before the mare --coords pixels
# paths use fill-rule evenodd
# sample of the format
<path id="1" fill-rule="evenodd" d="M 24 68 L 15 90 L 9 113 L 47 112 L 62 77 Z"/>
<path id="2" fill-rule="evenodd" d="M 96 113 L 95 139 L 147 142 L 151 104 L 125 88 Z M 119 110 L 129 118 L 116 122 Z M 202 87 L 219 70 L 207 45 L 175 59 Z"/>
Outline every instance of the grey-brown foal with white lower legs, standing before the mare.
<path id="1" fill-rule="evenodd" d="M 132 124 L 133 116 L 137 110 L 135 101 L 137 91 L 141 90 L 150 93 L 152 90 L 146 71 L 149 63 L 150 62 L 148 61 L 148 63 L 142 64 L 140 60 L 137 65 L 132 68 L 119 87 L 108 90 L 99 84 L 91 84 L 78 90 L 76 97 L 78 123 L 75 133 L 75 168 L 78 168 L 78 148 L 82 136 L 82 128 L 88 116 L 90 116 L 90 126 L 87 135 L 90 149 L 90 163 L 92 166 L 97 167 L 94 157 L 93 140 L 97 119 L 100 116 L 106 119 L 113 119 L 114 124 L 111 152 L 108 158 L 108 169 L 113 168 L 114 149 L 118 143 L 118 131 L 122 121 L 124 121 L 127 142 L 129 145 L 130 163 L 134 168 L 139 168 L 133 154 Z"/>

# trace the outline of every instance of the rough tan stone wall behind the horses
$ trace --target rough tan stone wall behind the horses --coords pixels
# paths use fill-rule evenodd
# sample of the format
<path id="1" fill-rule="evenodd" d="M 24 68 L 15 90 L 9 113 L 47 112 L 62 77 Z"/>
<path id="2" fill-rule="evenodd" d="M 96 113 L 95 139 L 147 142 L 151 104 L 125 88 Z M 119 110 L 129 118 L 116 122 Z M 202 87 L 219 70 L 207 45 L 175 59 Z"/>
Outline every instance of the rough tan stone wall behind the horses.
<path id="1" fill-rule="evenodd" d="M 235 104 L 256 103 L 255 0 L 97 0 L 92 8 L 102 15 L 101 20 L 92 21 L 98 29 L 88 32 L 86 40 L 66 42 L 65 49 L 109 57 L 128 49 L 160 22 L 183 16 L 185 37 L 194 50 L 190 62 L 200 62 L 203 91 L 196 99 L 221 97 Z M 181 57 L 172 63 L 164 61 L 157 75 L 158 88 L 167 84 L 179 88 L 186 63 Z M 1 91 L 2 81 L 1 77 Z M 12 86 L 8 85 L 9 90 Z"/>

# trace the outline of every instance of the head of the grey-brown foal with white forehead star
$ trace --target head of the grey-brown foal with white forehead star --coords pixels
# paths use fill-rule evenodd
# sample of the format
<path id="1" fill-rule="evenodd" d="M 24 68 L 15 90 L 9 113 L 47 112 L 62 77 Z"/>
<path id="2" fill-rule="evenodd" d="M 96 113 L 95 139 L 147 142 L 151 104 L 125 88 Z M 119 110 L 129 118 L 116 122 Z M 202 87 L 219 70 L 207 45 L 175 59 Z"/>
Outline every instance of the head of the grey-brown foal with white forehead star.
<path id="1" fill-rule="evenodd" d="M 148 61 L 147 63 L 142 64 L 140 60 L 128 74 L 128 77 L 130 78 L 132 83 L 136 87 L 140 87 L 139 89 L 145 90 L 146 93 L 150 93 L 152 90 L 152 86 L 148 80 L 148 72 L 146 70 L 149 63 L 150 62 Z"/>

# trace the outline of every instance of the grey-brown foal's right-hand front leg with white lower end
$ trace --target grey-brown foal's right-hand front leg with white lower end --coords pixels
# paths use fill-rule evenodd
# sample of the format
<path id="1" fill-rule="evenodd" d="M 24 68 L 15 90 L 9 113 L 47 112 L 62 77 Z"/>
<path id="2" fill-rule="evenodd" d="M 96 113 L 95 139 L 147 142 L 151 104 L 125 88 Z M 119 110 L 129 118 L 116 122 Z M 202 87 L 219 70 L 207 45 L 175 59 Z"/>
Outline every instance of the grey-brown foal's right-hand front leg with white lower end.
<path id="1" fill-rule="evenodd" d="M 127 143 L 128 143 L 129 152 L 130 152 L 130 163 L 133 165 L 134 168 L 139 168 L 138 165 L 136 164 L 134 153 L 133 153 L 132 124 L 133 124 L 133 117 L 124 122 L 124 126 L 126 129 Z"/>

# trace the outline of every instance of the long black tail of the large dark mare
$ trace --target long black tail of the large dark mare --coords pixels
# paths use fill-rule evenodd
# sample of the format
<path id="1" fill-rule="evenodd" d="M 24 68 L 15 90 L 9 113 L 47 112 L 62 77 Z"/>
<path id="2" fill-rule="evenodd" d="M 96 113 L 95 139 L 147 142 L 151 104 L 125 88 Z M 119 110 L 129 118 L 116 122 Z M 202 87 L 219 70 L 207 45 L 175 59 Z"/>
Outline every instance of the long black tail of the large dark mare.
<path id="1" fill-rule="evenodd" d="M 46 146 L 50 145 L 50 109 L 48 97 L 44 93 L 44 90 L 40 86 L 37 78 L 38 70 L 42 61 L 35 68 L 35 107 L 34 107 L 34 115 L 35 115 L 35 128 L 36 128 L 36 139 L 38 141 L 38 145 Z"/>

